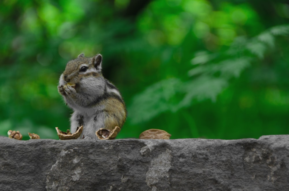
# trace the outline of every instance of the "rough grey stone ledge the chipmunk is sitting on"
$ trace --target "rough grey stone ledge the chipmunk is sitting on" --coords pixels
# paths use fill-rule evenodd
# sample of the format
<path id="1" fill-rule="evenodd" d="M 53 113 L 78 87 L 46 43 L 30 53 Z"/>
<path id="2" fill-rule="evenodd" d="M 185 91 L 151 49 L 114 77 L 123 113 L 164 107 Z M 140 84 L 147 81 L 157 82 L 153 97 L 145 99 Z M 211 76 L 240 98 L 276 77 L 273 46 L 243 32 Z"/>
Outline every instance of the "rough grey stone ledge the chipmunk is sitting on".
<path id="1" fill-rule="evenodd" d="M 289 135 L 259 139 L 0 137 L 0 190 L 287 190 Z"/>

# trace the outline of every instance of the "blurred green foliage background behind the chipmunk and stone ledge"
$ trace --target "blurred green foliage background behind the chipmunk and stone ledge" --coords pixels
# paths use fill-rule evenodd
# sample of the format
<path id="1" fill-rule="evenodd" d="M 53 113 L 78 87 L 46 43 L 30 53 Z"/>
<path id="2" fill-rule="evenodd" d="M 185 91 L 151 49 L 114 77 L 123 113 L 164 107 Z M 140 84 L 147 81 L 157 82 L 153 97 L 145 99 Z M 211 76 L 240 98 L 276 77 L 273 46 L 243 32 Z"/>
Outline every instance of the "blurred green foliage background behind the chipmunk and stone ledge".
<path id="1" fill-rule="evenodd" d="M 80 53 L 123 95 L 118 138 L 289 134 L 288 21 L 285 0 L 3 0 L 0 135 L 69 128 L 57 84 Z"/>

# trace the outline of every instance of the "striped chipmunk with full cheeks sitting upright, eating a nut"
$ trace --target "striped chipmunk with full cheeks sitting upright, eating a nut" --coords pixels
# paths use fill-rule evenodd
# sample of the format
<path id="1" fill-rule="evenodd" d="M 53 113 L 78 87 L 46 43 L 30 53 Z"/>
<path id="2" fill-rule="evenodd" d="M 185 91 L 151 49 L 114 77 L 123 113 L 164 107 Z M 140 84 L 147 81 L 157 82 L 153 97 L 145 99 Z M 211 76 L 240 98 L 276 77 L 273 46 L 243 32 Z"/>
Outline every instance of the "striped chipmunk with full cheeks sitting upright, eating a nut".
<path id="1" fill-rule="evenodd" d="M 82 137 L 96 139 L 100 128 L 120 128 L 127 111 L 118 89 L 101 73 L 102 56 L 78 55 L 67 63 L 59 79 L 58 91 L 66 105 L 73 109 L 70 131 L 83 125 Z"/>

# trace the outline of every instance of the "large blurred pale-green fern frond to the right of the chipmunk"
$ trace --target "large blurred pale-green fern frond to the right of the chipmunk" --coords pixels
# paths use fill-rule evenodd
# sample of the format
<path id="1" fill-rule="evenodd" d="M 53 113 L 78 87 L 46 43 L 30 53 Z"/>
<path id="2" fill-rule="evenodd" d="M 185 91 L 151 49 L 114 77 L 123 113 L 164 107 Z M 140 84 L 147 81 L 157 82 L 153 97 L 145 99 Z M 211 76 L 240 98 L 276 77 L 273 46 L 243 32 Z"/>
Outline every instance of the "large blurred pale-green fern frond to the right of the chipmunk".
<path id="1" fill-rule="evenodd" d="M 272 27 L 251 39 L 237 37 L 223 54 L 196 53 L 191 60 L 194 68 L 188 71 L 193 79 L 162 80 L 135 95 L 128 108 L 131 122 L 148 121 L 160 113 L 176 112 L 205 99 L 214 101 L 231 78 L 238 78 L 252 60 L 264 58 L 280 35 L 289 35 L 289 25 Z"/>

